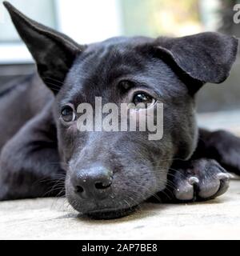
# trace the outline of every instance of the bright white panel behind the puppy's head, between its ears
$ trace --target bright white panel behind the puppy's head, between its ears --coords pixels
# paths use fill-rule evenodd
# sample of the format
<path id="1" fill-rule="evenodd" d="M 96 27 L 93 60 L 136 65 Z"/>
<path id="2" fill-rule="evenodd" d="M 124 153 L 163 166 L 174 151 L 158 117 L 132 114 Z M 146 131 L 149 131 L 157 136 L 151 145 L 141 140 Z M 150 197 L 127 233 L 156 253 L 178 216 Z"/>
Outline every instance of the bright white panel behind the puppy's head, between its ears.
<path id="1" fill-rule="evenodd" d="M 60 30 L 77 42 L 98 42 L 122 34 L 118 0 L 58 0 Z"/>

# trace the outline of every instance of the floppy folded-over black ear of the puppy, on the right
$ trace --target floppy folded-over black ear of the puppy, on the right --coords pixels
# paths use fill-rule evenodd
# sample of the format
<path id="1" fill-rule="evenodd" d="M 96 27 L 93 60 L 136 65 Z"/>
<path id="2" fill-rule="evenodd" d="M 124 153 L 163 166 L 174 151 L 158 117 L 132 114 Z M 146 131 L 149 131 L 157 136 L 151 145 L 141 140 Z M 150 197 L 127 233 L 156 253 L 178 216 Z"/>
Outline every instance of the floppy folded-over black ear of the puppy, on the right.
<path id="1" fill-rule="evenodd" d="M 226 80 L 238 53 L 238 39 L 205 32 L 182 38 L 158 38 L 154 47 L 185 78 L 191 78 L 190 86 L 196 87 L 190 90 L 196 92 L 206 82 Z"/>

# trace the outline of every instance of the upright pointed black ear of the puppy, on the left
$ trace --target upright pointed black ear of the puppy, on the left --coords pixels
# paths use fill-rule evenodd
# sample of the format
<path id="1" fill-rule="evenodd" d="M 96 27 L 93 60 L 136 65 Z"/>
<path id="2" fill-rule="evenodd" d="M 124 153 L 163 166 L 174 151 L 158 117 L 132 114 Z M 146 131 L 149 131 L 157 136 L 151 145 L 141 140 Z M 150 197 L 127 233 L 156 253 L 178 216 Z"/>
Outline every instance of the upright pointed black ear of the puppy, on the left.
<path id="1" fill-rule="evenodd" d="M 38 66 L 43 82 L 56 93 L 74 59 L 85 46 L 79 46 L 66 35 L 34 22 L 9 2 L 4 2 L 18 34 L 26 43 Z"/>

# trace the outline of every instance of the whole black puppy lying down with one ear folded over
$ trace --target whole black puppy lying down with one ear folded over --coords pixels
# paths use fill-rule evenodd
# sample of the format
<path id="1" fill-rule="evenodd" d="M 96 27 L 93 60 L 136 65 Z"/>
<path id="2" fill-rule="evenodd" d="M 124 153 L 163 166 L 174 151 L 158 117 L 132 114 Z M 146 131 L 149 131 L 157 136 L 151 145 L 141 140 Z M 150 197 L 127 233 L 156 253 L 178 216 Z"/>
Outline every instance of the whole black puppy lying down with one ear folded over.
<path id="1" fill-rule="evenodd" d="M 194 98 L 206 82 L 228 77 L 236 38 L 202 33 L 80 46 L 5 6 L 44 83 L 34 74 L 0 91 L 2 200 L 66 193 L 82 214 L 117 218 L 153 196 L 191 202 L 226 192 L 226 170 L 240 173 L 240 139 L 198 130 Z M 94 106 L 95 97 L 163 102 L 163 138 L 80 132 L 78 105 Z"/>

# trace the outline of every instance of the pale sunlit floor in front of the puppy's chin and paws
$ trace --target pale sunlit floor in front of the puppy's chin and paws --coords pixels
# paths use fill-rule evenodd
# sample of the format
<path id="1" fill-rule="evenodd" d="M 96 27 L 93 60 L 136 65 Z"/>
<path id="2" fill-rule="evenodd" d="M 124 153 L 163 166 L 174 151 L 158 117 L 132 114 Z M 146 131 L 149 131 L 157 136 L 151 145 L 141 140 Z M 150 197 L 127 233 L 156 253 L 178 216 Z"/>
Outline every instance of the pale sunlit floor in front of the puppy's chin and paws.
<path id="1" fill-rule="evenodd" d="M 151 204 L 126 218 L 78 218 L 65 199 L 0 203 L 0 239 L 240 239 L 240 180 L 210 202 Z"/>

